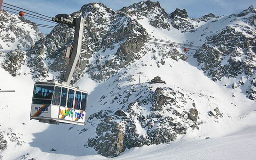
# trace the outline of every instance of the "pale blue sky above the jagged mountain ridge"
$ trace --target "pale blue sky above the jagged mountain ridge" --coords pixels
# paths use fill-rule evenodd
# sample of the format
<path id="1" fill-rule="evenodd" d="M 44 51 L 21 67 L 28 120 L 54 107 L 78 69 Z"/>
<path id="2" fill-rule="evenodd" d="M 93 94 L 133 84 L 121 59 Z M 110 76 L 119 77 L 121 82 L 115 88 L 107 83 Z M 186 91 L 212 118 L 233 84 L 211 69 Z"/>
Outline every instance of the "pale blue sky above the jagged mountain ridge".
<path id="1" fill-rule="evenodd" d="M 141 0 L 3 0 L 4 3 L 19 6 L 49 17 L 53 17 L 59 13 L 70 14 L 80 10 L 84 4 L 92 2 L 103 3 L 116 11 L 124 6 L 129 6 L 140 1 Z M 214 13 L 216 16 L 230 15 L 232 13 L 241 12 L 251 5 L 253 5 L 254 8 L 256 7 L 255 0 L 158 0 L 158 2 L 167 13 L 175 11 L 176 8 L 185 8 L 188 12 L 188 16 L 192 18 L 200 18 L 208 13 Z M 5 7 L 2 8 L 4 9 Z M 48 25 L 53 24 L 44 21 L 37 21 L 36 19 L 26 16 L 25 18 L 36 23 Z M 39 30 L 45 34 L 48 34 L 51 31 L 51 29 L 43 27 L 40 27 Z"/>

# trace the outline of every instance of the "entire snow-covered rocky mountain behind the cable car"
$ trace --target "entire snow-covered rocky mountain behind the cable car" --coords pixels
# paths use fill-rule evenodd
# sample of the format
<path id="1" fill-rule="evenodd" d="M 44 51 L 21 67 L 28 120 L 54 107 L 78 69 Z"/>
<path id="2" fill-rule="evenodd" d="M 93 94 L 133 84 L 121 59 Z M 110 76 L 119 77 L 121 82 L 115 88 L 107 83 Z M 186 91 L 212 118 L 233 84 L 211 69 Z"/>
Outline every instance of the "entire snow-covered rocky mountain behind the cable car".
<path id="1" fill-rule="evenodd" d="M 123 159 L 138 154 L 131 149 L 135 147 L 147 152 L 143 147 L 148 145 L 156 149 L 162 143 L 179 147 L 206 137 L 214 141 L 240 135 L 248 126 L 253 126 L 248 134 L 255 134 L 252 6 L 230 16 L 210 13 L 194 19 L 185 9 L 166 13 L 158 2 L 143 1 L 118 11 L 90 3 L 71 16 L 85 16 L 88 26 L 75 73 L 77 85 L 90 92 L 86 125 L 28 119 L 33 81 L 59 79 L 68 65 L 63 53 L 72 44 L 74 28 L 58 24 L 41 36 L 36 25 L 1 20 L 0 89 L 16 92 L 0 95 L 0 159 L 93 159 L 90 155 L 97 154 L 121 154 Z M 31 23 L 4 10 L 0 18 Z M 149 38 L 201 47 L 184 52 L 178 45 L 158 45 Z M 156 76 L 166 84 L 150 84 Z M 19 116 L 9 114 L 17 110 Z M 11 155 L 13 149 L 17 154 Z"/>

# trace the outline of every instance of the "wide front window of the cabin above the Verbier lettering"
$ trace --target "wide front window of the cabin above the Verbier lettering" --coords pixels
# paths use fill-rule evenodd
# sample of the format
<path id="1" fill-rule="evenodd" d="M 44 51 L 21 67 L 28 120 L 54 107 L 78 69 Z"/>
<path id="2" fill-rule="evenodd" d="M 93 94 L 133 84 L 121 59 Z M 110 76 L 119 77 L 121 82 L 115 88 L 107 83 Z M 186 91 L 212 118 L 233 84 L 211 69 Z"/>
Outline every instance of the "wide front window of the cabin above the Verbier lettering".
<path id="1" fill-rule="evenodd" d="M 37 85 L 34 91 L 33 104 L 51 104 L 54 86 Z"/>

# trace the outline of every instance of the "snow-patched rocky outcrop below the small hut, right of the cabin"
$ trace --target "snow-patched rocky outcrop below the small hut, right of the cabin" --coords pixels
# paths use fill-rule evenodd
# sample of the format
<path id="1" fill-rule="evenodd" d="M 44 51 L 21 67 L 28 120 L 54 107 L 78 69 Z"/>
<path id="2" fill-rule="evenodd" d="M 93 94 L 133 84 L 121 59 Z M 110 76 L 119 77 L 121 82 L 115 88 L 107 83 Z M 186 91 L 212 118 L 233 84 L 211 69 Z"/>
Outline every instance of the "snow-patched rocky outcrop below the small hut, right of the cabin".
<path id="1" fill-rule="evenodd" d="M 188 94 L 171 88 L 152 90 L 152 86 L 126 86 L 120 88 L 124 92 L 113 93 L 119 96 L 114 97 L 111 104 L 123 107 L 116 112 L 101 110 L 88 118 L 92 124 L 100 120 L 88 146 L 101 155 L 114 157 L 125 148 L 173 141 L 177 134 L 185 134 L 188 127 L 196 126 L 198 112 Z M 134 98 L 136 101 L 130 102 Z M 103 102 L 104 97 L 101 100 Z M 148 111 L 143 111 L 145 109 Z M 191 117 L 194 122 L 184 123 Z"/>

